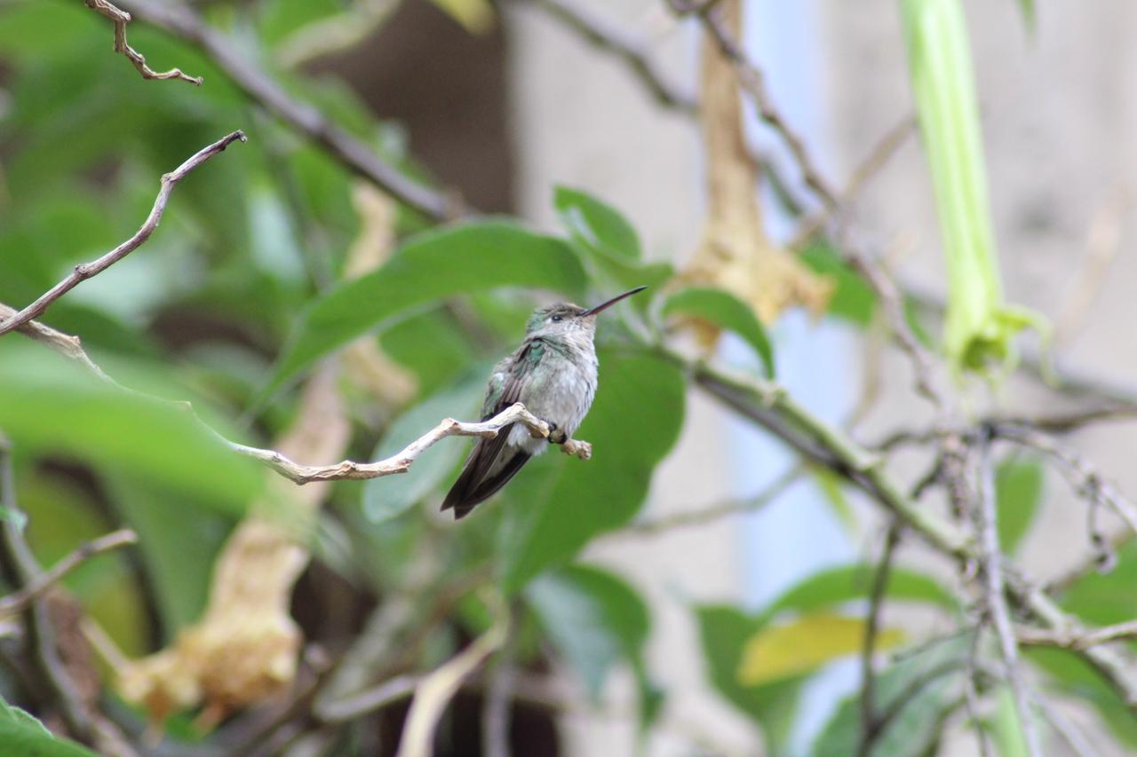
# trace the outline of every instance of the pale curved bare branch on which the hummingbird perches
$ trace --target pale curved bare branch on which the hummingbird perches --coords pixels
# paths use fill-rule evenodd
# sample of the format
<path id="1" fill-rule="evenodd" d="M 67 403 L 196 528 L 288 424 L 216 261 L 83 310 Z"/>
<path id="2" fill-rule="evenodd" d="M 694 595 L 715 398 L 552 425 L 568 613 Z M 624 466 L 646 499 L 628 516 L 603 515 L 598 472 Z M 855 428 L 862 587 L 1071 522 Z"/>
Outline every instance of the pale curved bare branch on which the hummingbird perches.
<path id="1" fill-rule="evenodd" d="M 230 446 L 241 455 L 260 460 L 276 473 L 297 484 L 306 484 L 312 481 L 362 481 L 364 479 L 380 479 L 397 473 L 406 473 L 420 455 L 433 447 L 447 436 L 481 436 L 492 439 L 497 436 L 506 426 L 520 423 L 528 426 L 534 439 L 547 439 L 549 426 L 525 409 L 521 402 L 511 405 L 506 409 L 495 415 L 489 421 L 481 423 L 463 423 L 454 418 L 446 418 L 425 434 L 410 442 L 391 457 L 375 463 L 356 463 L 343 460 L 334 465 L 300 465 L 288 459 L 276 450 L 258 449 L 230 442 Z M 592 446 L 578 439 L 567 439 L 561 444 L 566 455 L 573 455 L 582 460 L 592 456 Z"/>

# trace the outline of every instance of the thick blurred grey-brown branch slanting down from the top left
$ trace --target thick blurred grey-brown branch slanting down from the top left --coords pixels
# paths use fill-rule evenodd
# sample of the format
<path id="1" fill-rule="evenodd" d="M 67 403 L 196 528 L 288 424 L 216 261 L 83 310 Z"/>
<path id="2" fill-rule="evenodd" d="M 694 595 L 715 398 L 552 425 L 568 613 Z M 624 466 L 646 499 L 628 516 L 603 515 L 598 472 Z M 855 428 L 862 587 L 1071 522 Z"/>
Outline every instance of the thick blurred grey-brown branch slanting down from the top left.
<path id="1" fill-rule="evenodd" d="M 434 221 L 468 215 L 456 191 L 435 191 L 408 178 L 380 158 L 374 148 L 325 118 L 319 109 L 293 99 L 240 52 L 246 45 L 206 24 L 185 3 L 118 0 L 118 5 L 136 19 L 200 48 L 244 94 L 310 139 L 348 169 L 410 208 Z"/>

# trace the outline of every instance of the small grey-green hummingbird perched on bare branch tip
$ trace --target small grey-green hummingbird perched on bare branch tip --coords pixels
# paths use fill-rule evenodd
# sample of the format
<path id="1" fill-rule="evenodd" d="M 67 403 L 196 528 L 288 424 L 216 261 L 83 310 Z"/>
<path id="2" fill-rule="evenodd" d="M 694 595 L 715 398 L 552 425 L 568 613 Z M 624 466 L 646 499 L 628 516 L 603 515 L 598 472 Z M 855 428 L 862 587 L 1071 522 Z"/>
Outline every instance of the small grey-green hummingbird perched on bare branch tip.
<path id="1" fill-rule="evenodd" d="M 529 429 L 516 423 L 493 439 L 478 440 L 442 501 L 443 510 L 453 509 L 455 519 L 465 517 L 549 442 L 562 444 L 572 436 L 596 396 L 596 316 L 645 289 L 637 286 L 591 308 L 557 302 L 533 310 L 525 323 L 525 341 L 490 373 L 482 421 L 522 402 L 548 424 L 548 440 L 534 439 Z"/>

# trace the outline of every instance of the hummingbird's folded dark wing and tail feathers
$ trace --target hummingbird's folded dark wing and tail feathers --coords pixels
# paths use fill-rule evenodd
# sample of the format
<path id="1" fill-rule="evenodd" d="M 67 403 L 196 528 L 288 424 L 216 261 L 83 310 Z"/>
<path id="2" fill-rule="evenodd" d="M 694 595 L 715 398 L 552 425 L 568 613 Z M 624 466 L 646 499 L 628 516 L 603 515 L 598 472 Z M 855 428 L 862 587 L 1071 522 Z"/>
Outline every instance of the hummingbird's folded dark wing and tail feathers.
<path id="1" fill-rule="evenodd" d="M 540 363 L 543 355 L 545 342 L 534 339 L 522 344 L 516 352 L 495 368 L 485 391 L 482 421 L 489 421 L 521 398 L 525 376 L 536 364 Z M 513 426 L 514 424 L 509 424 L 493 439 L 479 439 L 474 444 L 462 474 L 442 500 L 442 509 L 453 508 L 455 519 L 465 516 L 476 505 L 496 494 L 529 460 L 529 454 L 516 450 L 504 465 L 495 465 L 505 450 Z"/>

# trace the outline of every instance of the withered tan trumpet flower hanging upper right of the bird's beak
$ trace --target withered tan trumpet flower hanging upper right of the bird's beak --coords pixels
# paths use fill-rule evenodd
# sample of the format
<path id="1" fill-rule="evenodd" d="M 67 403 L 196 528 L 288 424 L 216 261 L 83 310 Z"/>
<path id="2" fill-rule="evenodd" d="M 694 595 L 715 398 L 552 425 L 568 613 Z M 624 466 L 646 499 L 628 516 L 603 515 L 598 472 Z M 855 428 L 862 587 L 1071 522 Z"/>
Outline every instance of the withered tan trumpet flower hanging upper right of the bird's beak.
<path id="1" fill-rule="evenodd" d="M 737 36 L 740 0 L 721 0 L 715 11 Z M 755 197 L 758 167 L 746 145 L 735 68 L 709 34 L 704 35 L 702 55 L 709 211 L 703 241 L 680 281 L 725 289 L 749 303 L 766 324 L 797 305 L 822 313 L 832 282 L 771 242 L 762 225 Z M 700 330 L 700 335 L 713 343 L 717 330 Z"/>

